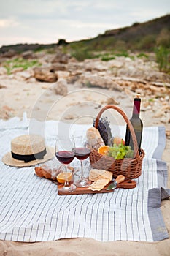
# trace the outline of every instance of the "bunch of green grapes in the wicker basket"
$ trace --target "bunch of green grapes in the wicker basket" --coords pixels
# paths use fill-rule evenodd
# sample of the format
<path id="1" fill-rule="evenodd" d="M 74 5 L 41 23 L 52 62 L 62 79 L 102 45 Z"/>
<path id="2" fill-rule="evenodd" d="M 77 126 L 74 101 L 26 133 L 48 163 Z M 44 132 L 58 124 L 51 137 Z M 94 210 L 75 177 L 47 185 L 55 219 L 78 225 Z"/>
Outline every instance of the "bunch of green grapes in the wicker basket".
<path id="1" fill-rule="evenodd" d="M 109 147 L 109 157 L 114 157 L 115 160 L 134 157 L 134 150 L 131 146 L 125 146 L 123 143 L 113 144 Z"/>

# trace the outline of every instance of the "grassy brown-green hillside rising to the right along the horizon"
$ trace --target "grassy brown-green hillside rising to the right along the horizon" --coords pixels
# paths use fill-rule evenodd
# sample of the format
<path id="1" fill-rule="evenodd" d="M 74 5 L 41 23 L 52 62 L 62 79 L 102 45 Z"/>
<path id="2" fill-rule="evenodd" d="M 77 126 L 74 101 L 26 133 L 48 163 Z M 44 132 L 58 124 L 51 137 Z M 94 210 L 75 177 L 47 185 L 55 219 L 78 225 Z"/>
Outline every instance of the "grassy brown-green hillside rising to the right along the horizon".
<path id="1" fill-rule="evenodd" d="M 107 61 L 115 56 L 129 56 L 129 52 L 146 56 L 154 52 L 160 70 L 170 69 L 170 14 L 144 23 L 134 23 L 120 29 L 112 29 L 99 34 L 98 37 L 67 43 L 60 39 L 56 44 L 17 44 L 0 48 L 0 53 L 15 50 L 21 53 L 26 50 L 50 50 L 62 45 L 63 53 L 70 53 L 79 61 L 101 57 Z M 169 71 L 168 71 L 169 72 Z"/>

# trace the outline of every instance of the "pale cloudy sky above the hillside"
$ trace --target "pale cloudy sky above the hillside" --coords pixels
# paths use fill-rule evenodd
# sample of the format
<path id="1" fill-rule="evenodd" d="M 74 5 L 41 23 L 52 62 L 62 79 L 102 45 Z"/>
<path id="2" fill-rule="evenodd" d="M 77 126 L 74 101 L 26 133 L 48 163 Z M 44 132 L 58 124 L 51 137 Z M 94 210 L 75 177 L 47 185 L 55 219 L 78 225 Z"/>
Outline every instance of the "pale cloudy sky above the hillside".
<path id="1" fill-rule="evenodd" d="M 169 0 L 0 0 L 0 47 L 89 39 L 169 13 Z"/>

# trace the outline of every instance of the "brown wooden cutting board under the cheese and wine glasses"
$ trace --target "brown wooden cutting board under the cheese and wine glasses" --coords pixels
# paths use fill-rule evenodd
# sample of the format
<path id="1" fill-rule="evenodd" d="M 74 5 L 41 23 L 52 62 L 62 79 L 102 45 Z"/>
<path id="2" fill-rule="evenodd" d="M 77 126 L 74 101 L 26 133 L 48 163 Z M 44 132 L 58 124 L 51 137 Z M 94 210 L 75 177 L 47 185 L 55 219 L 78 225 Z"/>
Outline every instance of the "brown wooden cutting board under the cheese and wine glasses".
<path id="1" fill-rule="evenodd" d="M 110 183 L 112 183 L 112 182 L 110 182 Z M 100 191 L 93 191 L 93 190 L 89 189 L 88 187 L 77 187 L 72 192 L 58 191 L 58 195 L 98 194 L 98 193 L 113 192 L 114 189 L 107 190 L 107 187 L 109 186 L 109 184 L 107 184 L 107 186 L 104 187 L 104 189 L 101 189 Z M 58 185 L 58 188 L 60 188 L 60 187 L 63 187 L 63 185 Z M 136 187 L 136 181 L 131 180 L 131 181 L 123 181 L 122 183 L 117 184 L 116 189 L 134 189 L 134 187 Z"/>

